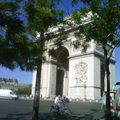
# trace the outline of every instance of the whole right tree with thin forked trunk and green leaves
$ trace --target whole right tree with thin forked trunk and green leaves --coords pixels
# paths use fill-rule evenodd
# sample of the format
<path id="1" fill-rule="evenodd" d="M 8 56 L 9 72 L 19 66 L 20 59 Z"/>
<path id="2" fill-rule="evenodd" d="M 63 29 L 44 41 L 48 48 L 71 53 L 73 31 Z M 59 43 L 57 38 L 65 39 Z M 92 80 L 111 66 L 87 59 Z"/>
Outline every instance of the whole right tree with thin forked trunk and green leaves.
<path id="1" fill-rule="evenodd" d="M 73 0 L 77 3 L 78 0 Z M 104 50 L 105 73 L 107 80 L 107 119 L 110 119 L 110 70 L 112 53 L 120 45 L 120 0 L 82 0 L 85 8 L 76 11 L 73 19 L 78 24 L 77 37 L 85 36 L 84 43 L 94 40 Z M 83 17 L 90 17 L 88 23 L 83 23 Z M 77 41 L 78 45 L 81 41 Z"/>

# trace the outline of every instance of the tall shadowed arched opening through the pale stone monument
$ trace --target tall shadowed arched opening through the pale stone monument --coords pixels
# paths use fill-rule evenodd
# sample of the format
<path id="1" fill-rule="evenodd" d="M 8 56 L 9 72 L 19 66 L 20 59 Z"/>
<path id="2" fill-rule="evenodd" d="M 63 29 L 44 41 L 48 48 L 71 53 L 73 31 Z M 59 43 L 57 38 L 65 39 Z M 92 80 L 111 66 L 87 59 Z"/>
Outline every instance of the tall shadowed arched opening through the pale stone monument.
<path id="1" fill-rule="evenodd" d="M 67 95 L 68 92 L 68 50 L 61 46 L 56 49 L 54 58 L 57 60 L 56 70 L 56 95 Z"/>

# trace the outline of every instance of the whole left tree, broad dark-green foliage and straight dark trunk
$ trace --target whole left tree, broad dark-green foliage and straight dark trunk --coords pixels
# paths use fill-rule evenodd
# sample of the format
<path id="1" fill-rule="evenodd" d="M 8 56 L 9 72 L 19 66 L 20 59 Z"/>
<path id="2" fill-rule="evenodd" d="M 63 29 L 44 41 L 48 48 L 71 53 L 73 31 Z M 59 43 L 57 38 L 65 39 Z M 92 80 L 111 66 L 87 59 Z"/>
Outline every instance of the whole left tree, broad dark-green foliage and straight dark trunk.
<path id="1" fill-rule="evenodd" d="M 0 65 L 9 69 L 37 69 L 33 120 L 38 119 L 39 112 L 41 65 L 47 37 L 45 32 L 61 19 L 62 12 L 55 8 L 59 1 L 26 0 L 26 9 L 23 10 L 23 14 L 27 15 L 25 22 L 21 19 L 20 0 L 0 1 Z M 36 33 L 40 37 L 36 38 Z"/>

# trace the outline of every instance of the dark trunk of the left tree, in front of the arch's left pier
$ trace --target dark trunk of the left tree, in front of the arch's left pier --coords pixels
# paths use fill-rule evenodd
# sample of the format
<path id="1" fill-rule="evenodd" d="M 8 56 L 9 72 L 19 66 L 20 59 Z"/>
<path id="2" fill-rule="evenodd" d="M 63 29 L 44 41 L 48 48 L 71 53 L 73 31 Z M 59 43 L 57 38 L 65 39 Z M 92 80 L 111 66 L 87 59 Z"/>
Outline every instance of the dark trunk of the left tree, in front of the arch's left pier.
<path id="1" fill-rule="evenodd" d="M 37 75 L 36 75 L 36 85 L 35 85 L 35 96 L 33 102 L 33 115 L 32 120 L 38 120 L 39 115 L 39 101 L 40 101 L 40 86 L 41 86 L 41 69 L 42 69 L 42 55 L 45 44 L 44 32 L 41 33 L 40 39 L 38 39 L 38 45 L 40 48 L 40 55 L 37 59 Z"/>

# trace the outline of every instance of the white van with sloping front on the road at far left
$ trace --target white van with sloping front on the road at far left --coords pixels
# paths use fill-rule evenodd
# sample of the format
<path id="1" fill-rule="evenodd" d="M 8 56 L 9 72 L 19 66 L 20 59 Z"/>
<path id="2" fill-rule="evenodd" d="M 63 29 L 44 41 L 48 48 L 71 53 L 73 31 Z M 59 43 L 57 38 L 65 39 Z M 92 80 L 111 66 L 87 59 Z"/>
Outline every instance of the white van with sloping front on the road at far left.
<path id="1" fill-rule="evenodd" d="M 14 100 L 17 100 L 18 96 L 12 90 L 0 89 L 0 99 L 14 99 Z"/>

